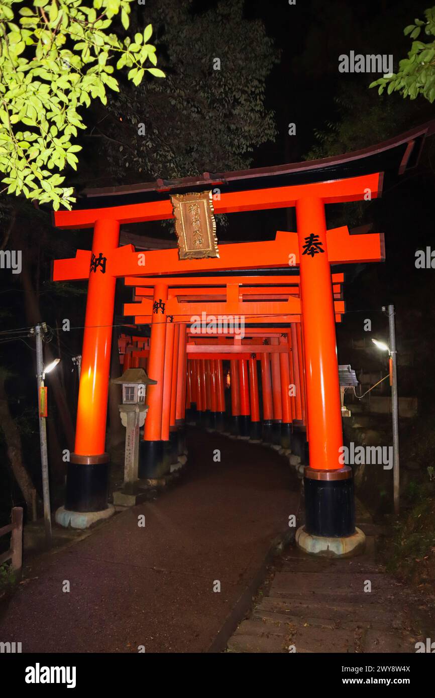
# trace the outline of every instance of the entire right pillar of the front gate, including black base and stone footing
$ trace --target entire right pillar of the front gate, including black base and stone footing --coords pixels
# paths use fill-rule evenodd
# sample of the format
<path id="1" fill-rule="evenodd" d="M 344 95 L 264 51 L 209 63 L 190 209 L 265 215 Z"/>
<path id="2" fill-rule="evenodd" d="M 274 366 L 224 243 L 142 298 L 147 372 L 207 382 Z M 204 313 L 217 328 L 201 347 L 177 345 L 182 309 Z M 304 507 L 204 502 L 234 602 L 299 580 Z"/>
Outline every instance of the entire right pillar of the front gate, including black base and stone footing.
<path id="1" fill-rule="evenodd" d="M 297 200 L 296 217 L 310 463 L 304 470 L 305 526 L 296 542 L 309 553 L 351 554 L 364 547 L 364 533 L 355 529 L 352 469 L 339 463 L 343 431 L 323 200 Z"/>

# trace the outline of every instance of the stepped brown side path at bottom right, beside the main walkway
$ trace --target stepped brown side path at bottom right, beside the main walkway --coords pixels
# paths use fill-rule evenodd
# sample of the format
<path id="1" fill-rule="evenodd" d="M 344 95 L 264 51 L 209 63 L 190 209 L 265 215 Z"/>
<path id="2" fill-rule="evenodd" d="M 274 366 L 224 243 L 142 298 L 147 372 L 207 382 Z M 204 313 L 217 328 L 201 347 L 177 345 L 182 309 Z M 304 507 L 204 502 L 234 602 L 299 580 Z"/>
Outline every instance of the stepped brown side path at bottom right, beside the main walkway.
<path id="1" fill-rule="evenodd" d="M 357 525 L 376 534 L 371 523 Z M 415 653 L 416 642 L 435 637 L 433 600 L 387 574 L 375 561 L 373 535 L 367 543 L 366 554 L 342 560 L 289 547 L 228 651 Z"/>

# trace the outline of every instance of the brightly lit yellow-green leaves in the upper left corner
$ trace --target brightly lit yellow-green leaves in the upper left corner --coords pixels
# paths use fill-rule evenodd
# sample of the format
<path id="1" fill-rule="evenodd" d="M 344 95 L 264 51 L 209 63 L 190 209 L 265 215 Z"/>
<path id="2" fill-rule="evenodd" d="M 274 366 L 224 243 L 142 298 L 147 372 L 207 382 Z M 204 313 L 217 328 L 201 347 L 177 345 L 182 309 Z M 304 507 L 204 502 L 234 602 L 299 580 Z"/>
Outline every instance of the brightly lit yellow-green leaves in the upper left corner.
<path id="1" fill-rule="evenodd" d="M 135 85 L 146 71 L 165 77 L 147 65 L 157 62 L 151 24 L 135 43 L 108 31 L 116 15 L 128 29 L 133 1 L 0 0 L 0 172 L 8 193 L 71 208 L 73 189 L 61 172 L 77 169 L 82 107 L 96 98 L 106 104 L 107 88 L 119 91 L 115 69 L 129 68 Z"/>

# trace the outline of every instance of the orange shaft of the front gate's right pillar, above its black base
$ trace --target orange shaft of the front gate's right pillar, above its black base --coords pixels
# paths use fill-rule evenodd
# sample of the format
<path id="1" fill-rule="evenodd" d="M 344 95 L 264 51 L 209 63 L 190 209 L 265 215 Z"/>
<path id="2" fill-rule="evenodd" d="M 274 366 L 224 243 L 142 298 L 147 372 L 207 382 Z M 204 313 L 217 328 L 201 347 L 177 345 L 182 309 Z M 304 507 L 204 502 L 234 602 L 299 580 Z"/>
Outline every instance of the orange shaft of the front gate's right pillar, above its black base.
<path id="1" fill-rule="evenodd" d="M 341 468 L 339 448 L 343 445 L 343 433 L 334 298 L 323 201 L 313 197 L 297 200 L 296 218 L 310 466 L 318 470 L 334 470 Z"/>

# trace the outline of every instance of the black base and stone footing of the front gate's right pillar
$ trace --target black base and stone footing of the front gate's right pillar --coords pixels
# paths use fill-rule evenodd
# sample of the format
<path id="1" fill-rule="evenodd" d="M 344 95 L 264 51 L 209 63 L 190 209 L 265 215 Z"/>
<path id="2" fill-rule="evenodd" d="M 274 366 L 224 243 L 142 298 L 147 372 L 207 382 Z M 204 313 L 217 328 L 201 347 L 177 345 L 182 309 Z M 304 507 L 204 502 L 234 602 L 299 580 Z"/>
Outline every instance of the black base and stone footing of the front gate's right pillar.
<path id="1" fill-rule="evenodd" d="M 304 470 L 305 526 L 297 530 L 296 543 L 307 553 L 347 557 L 365 547 L 362 530 L 355 528 L 353 473 L 339 470 Z"/>

